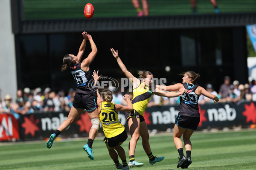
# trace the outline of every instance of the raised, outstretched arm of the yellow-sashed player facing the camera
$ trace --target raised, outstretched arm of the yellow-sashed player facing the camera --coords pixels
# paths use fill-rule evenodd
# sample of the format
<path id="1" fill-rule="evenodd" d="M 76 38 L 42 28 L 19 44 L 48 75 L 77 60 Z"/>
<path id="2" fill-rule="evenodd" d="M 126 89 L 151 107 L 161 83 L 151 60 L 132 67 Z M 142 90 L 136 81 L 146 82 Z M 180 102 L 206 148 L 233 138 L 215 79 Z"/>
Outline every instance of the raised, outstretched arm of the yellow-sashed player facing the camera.
<path id="1" fill-rule="evenodd" d="M 127 68 L 125 67 L 124 63 L 122 62 L 122 60 L 120 59 L 119 55 L 118 55 L 118 51 L 114 50 L 113 48 L 110 49 L 113 56 L 116 58 L 116 61 L 119 65 L 119 67 L 121 68 L 122 72 L 125 74 L 125 76 L 129 79 L 129 81 L 131 81 L 131 83 L 134 85 L 134 86 L 138 86 L 140 85 L 140 80 L 137 79 L 136 77 L 134 77 L 131 72 L 129 72 L 127 70 Z"/>

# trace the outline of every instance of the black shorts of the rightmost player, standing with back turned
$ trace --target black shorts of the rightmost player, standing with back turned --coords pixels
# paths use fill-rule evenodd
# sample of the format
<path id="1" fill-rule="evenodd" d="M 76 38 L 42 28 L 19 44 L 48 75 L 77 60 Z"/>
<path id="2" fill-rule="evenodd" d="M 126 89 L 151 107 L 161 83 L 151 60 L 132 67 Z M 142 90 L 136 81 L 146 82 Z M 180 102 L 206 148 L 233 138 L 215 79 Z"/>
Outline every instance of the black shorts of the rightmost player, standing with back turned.
<path id="1" fill-rule="evenodd" d="M 191 129 L 191 130 L 196 130 L 199 122 L 200 122 L 200 117 L 189 117 L 189 116 L 183 116 L 180 114 L 175 119 L 175 124 L 177 126 L 183 127 L 185 129 Z"/>

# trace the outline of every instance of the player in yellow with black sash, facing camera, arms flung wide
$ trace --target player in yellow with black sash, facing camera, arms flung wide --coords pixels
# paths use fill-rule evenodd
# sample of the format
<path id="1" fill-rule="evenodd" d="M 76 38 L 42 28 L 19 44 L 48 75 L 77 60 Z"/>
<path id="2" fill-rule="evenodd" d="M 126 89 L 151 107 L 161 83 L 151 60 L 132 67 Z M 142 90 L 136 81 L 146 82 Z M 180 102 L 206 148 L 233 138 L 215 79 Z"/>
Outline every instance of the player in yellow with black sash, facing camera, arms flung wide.
<path id="1" fill-rule="evenodd" d="M 131 112 L 125 112 L 125 118 L 128 122 L 129 130 L 131 133 L 131 140 L 129 142 L 129 164 L 130 167 L 140 167 L 143 166 L 143 163 L 137 162 L 135 160 L 135 148 L 137 141 L 140 136 L 142 138 L 142 145 L 145 153 L 148 156 L 149 163 L 154 164 L 156 162 L 162 161 L 164 157 L 156 157 L 153 156 L 151 152 L 151 148 L 149 145 L 149 134 L 148 127 L 143 117 L 143 113 L 145 108 L 148 105 L 148 101 L 151 98 L 152 94 L 156 94 L 158 96 L 166 96 L 166 97 L 176 97 L 183 94 L 183 92 L 164 92 L 160 91 L 158 88 L 151 89 L 153 74 L 149 71 L 139 71 L 140 78 L 142 78 L 142 82 L 140 79 L 134 77 L 131 72 L 127 70 L 122 60 L 118 56 L 118 51 L 111 48 L 111 52 L 113 56 L 116 58 L 116 61 L 119 67 L 122 69 L 122 72 L 125 76 L 131 81 L 133 84 L 133 99 L 132 105 L 134 110 Z"/>

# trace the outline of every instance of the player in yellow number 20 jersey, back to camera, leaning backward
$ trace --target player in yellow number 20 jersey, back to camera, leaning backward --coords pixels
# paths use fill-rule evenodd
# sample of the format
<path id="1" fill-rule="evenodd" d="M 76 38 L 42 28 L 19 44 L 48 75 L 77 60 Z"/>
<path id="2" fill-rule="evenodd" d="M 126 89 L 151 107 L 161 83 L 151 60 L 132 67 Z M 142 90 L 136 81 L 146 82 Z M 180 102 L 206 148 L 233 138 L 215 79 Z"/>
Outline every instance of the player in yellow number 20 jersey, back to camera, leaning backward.
<path id="1" fill-rule="evenodd" d="M 95 83 L 99 80 L 98 71 L 93 72 L 93 78 Z M 97 89 L 98 92 L 98 89 Z M 123 142 L 127 139 L 127 133 L 125 131 L 124 125 L 119 122 L 118 112 L 119 111 L 132 111 L 133 107 L 131 104 L 130 96 L 125 94 L 123 98 L 127 101 L 128 106 L 123 106 L 115 103 L 111 103 L 113 100 L 113 94 L 109 90 L 105 90 L 102 93 L 102 99 L 99 93 L 97 93 L 97 104 L 99 111 L 99 119 L 102 123 L 102 129 L 105 134 L 104 142 L 108 148 L 108 153 L 113 159 L 116 168 L 121 170 L 129 170 L 125 150 L 121 146 Z M 122 164 L 119 163 L 118 155 L 122 160 Z"/>

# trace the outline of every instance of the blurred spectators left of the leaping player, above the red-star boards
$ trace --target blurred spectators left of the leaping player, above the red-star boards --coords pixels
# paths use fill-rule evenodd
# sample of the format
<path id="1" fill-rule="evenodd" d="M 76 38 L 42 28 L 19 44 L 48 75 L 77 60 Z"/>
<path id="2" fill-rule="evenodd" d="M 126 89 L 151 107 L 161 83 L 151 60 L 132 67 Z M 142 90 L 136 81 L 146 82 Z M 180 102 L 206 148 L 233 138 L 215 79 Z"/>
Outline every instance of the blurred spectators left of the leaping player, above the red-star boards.
<path id="1" fill-rule="evenodd" d="M 3 99 L 0 93 L 0 113 L 12 113 L 16 119 L 20 115 L 47 111 L 70 111 L 75 92 L 72 88 L 65 91 L 51 91 L 50 88 L 17 90 L 16 99 L 7 94 Z"/>

